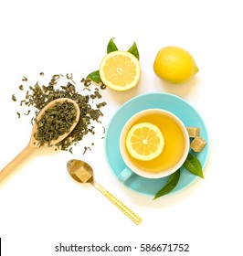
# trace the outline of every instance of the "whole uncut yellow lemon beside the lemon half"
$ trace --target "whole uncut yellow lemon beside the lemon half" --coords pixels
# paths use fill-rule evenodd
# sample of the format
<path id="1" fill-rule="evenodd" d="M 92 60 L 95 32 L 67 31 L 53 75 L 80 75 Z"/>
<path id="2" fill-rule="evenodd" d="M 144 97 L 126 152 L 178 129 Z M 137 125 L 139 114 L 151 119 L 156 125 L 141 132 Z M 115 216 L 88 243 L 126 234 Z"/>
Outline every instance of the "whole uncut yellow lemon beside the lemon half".
<path id="1" fill-rule="evenodd" d="M 153 70 L 163 80 L 183 83 L 191 79 L 199 69 L 188 51 L 171 46 L 159 50 L 153 63 Z"/>

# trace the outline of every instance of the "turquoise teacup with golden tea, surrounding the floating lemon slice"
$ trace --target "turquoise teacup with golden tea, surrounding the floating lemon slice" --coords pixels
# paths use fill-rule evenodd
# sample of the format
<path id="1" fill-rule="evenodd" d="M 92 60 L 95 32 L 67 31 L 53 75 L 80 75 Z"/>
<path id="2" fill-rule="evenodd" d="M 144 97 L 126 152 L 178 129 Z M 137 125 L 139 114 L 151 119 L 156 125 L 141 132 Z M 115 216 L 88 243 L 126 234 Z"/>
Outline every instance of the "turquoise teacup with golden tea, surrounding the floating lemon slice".
<path id="1" fill-rule="evenodd" d="M 163 135 L 162 152 L 152 160 L 134 158 L 127 147 L 128 133 L 139 123 L 153 124 Z M 125 182 L 132 174 L 146 178 L 172 175 L 184 164 L 189 148 L 190 141 L 185 124 L 174 113 L 162 109 L 138 112 L 124 124 L 120 135 L 120 152 L 127 167 L 122 170 L 119 179 Z"/>

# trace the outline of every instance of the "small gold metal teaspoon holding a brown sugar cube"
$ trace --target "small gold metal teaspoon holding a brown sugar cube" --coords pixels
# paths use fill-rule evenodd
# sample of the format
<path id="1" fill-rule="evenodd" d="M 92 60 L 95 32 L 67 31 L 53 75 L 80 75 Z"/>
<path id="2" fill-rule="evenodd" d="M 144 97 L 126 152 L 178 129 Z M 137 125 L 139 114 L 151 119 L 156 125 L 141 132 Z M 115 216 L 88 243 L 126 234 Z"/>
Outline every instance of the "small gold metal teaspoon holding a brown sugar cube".
<path id="1" fill-rule="evenodd" d="M 92 186 L 96 187 L 102 195 L 107 197 L 117 208 L 121 209 L 122 212 L 137 225 L 142 222 L 142 219 L 135 214 L 132 209 L 125 206 L 122 201 L 111 195 L 104 187 L 94 181 L 93 169 L 91 166 L 81 160 L 70 160 L 67 164 L 69 175 L 72 176 L 76 181 L 80 183 L 90 183 Z"/>

